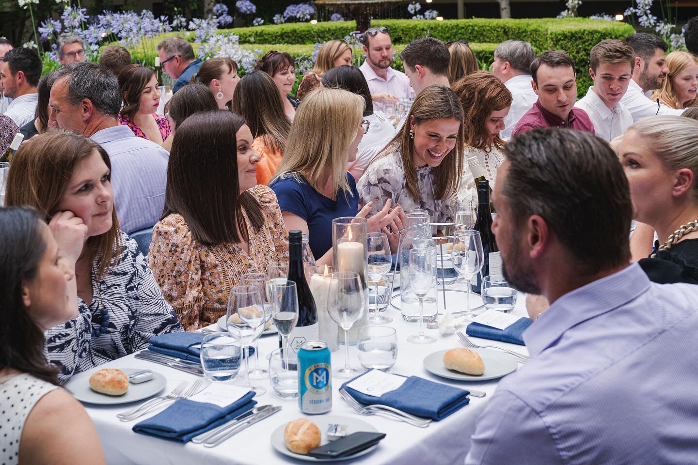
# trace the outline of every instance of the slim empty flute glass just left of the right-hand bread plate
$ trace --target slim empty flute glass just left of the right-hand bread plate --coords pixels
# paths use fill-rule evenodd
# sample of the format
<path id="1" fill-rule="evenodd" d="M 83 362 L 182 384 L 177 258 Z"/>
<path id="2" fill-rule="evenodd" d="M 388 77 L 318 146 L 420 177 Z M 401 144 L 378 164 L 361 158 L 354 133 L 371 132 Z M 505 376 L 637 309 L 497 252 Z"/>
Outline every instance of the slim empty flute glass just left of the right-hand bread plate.
<path id="1" fill-rule="evenodd" d="M 436 337 L 424 334 L 424 298 L 436 285 L 436 247 L 419 247 L 410 250 L 408 261 L 410 287 L 419 299 L 419 334 L 408 336 L 413 344 L 430 344 Z"/>

